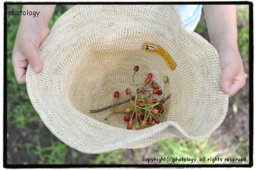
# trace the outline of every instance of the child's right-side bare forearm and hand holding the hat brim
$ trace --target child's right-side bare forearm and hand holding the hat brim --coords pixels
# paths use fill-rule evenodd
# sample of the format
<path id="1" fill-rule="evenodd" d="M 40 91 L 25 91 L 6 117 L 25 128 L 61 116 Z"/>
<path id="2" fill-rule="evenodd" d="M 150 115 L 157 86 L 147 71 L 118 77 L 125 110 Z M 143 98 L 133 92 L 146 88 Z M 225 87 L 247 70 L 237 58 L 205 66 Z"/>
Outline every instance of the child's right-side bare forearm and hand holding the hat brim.
<path id="1" fill-rule="evenodd" d="M 220 89 L 234 95 L 245 83 L 245 71 L 237 46 L 236 5 L 203 5 L 211 44 L 222 65 Z"/>

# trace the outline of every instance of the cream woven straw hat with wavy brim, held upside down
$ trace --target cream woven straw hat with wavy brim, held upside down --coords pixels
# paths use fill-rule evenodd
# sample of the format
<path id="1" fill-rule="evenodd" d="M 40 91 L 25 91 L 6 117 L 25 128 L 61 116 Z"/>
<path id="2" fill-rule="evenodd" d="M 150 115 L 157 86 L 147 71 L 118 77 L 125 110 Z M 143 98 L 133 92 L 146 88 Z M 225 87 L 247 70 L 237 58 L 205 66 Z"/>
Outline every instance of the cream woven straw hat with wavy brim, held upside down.
<path id="1" fill-rule="evenodd" d="M 200 139 L 219 127 L 228 110 L 218 52 L 183 26 L 176 5 L 75 5 L 55 22 L 38 53 L 44 69 L 34 74 L 29 65 L 26 77 L 32 105 L 56 137 L 84 153 L 146 147 L 173 135 Z M 127 99 L 126 88 L 135 93 L 129 85 L 135 65 L 136 83 L 152 72 L 162 88 L 162 77 L 169 77 L 167 121 L 127 130 L 124 114 L 104 120 L 112 110 L 90 113 L 114 104 L 115 91 L 119 101 Z"/>

